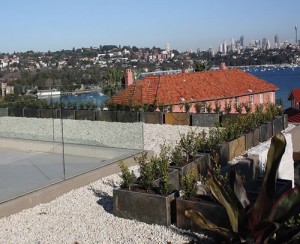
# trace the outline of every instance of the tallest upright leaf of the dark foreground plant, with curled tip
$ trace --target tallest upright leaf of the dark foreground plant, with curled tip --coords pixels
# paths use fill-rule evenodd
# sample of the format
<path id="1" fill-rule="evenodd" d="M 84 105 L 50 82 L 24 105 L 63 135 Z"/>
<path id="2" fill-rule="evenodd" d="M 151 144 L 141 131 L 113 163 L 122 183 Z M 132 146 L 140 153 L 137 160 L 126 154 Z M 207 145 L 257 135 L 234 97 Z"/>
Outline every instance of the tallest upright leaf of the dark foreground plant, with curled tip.
<path id="1" fill-rule="evenodd" d="M 253 206 L 249 219 L 249 229 L 251 231 L 262 219 L 269 215 L 274 202 L 276 173 L 282 155 L 285 152 L 285 147 L 286 140 L 282 133 L 276 134 L 272 137 L 262 188 Z"/>

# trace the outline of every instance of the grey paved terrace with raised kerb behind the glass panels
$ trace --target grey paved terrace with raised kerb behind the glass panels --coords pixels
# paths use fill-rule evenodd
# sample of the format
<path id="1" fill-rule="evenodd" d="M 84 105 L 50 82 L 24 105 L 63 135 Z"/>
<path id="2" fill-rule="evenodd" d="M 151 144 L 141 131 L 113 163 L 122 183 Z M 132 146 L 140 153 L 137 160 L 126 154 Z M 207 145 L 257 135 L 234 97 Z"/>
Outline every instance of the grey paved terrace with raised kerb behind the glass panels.
<path id="1" fill-rule="evenodd" d="M 141 150 L 0 138 L 0 218 L 114 174 L 120 159 L 131 165 L 139 153 Z"/>

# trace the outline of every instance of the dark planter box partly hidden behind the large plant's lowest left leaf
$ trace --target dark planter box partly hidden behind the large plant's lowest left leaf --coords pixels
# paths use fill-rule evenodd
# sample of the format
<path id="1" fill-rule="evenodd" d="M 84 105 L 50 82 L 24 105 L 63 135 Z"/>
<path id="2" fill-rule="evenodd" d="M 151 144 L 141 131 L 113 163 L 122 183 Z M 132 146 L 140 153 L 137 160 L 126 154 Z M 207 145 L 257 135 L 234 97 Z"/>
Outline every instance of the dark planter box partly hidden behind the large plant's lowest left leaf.
<path id="1" fill-rule="evenodd" d="M 197 226 L 191 219 L 184 215 L 186 210 L 195 210 L 207 220 L 223 228 L 231 228 L 226 209 L 219 203 L 199 200 L 176 199 L 176 226 L 179 229 L 203 233 L 204 230 Z"/>

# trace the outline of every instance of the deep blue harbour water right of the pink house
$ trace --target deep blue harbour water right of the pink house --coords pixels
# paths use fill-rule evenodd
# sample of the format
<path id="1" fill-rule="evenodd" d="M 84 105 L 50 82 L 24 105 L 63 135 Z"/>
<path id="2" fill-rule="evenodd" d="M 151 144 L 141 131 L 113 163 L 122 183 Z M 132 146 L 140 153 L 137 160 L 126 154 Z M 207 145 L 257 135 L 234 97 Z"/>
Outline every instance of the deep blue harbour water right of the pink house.
<path id="1" fill-rule="evenodd" d="M 278 86 L 276 99 L 282 98 L 285 109 L 291 106 L 287 99 L 292 88 L 300 88 L 300 67 L 249 69 L 247 72 Z"/>

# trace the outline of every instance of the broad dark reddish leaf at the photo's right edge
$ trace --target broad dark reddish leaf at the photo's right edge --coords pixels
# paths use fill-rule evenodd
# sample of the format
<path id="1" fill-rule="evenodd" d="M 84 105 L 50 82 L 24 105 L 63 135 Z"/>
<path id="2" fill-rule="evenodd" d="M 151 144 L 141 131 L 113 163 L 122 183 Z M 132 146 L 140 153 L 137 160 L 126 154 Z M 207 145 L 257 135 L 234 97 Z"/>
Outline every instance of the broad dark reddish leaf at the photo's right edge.
<path id="1" fill-rule="evenodd" d="M 288 220 L 300 210 L 300 186 L 295 186 L 281 195 L 272 206 L 268 220 L 272 222 L 282 222 Z M 297 212 L 298 211 L 298 212 Z"/>

